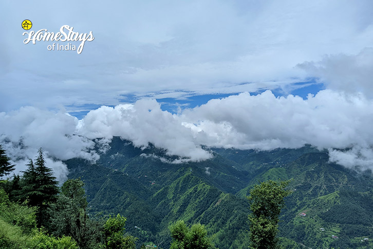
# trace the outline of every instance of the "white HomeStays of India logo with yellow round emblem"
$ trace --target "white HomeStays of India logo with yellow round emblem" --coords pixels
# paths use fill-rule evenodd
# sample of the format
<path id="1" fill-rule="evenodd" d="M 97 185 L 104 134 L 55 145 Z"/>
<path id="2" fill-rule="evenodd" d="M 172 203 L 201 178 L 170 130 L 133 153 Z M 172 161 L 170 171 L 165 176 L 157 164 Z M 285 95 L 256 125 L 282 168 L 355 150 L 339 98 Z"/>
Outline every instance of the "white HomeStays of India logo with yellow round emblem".
<path id="1" fill-rule="evenodd" d="M 32 26 L 30 20 L 25 20 L 22 22 L 22 28 L 25 30 L 29 30 Z M 24 44 L 28 44 L 31 42 L 32 44 L 36 44 L 36 42 L 49 42 L 49 41 L 56 41 L 60 43 L 53 43 L 47 46 L 48 50 L 77 50 L 78 54 L 83 51 L 83 47 L 85 42 L 91 42 L 95 39 L 93 36 L 92 31 L 89 33 L 79 33 L 74 32 L 73 27 L 68 25 L 62 25 L 59 32 L 48 32 L 47 29 L 41 29 L 39 31 L 29 31 L 23 32 L 22 35 L 27 35 L 28 37 L 23 41 Z M 64 43 L 68 42 L 68 43 Z M 71 42 L 71 43 L 70 43 Z M 74 42 L 80 42 L 79 46 L 74 45 Z M 78 49 L 77 49 L 78 46 Z"/>

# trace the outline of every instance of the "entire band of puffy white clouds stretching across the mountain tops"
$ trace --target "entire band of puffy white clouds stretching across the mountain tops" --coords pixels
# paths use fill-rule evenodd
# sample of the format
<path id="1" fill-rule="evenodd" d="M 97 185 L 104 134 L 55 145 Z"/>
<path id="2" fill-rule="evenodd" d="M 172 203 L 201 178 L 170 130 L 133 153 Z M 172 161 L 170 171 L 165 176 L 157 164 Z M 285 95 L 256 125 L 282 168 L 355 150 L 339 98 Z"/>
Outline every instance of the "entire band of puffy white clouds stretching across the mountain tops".
<path id="1" fill-rule="evenodd" d="M 91 140 L 104 138 L 105 145 L 113 136 L 138 147 L 153 143 L 183 161 L 211 158 L 202 145 L 271 150 L 311 144 L 329 149 L 332 162 L 371 168 L 372 123 L 373 101 L 361 93 L 322 90 L 304 100 L 293 95 L 276 98 L 267 90 L 210 100 L 179 114 L 161 110 L 152 99 L 102 106 L 82 120 L 63 111 L 24 107 L 0 113 L 0 138 L 16 162 L 33 158 L 43 147 L 61 176 L 66 168 L 60 160 L 96 160 L 99 151 Z"/>

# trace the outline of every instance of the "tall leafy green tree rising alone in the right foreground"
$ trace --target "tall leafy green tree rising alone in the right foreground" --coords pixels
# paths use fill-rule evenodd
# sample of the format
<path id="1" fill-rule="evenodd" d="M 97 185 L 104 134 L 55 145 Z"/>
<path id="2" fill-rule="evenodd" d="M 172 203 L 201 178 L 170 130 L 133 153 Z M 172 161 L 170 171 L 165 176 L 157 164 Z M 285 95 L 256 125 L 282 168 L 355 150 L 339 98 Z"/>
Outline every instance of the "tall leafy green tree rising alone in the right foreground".
<path id="1" fill-rule="evenodd" d="M 290 194 L 285 187 L 290 181 L 268 180 L 254 186 L 248 199 L 251 202 L 249 215 L 251 248 L 278 248 L 278 222 L 284 198 Z"/>

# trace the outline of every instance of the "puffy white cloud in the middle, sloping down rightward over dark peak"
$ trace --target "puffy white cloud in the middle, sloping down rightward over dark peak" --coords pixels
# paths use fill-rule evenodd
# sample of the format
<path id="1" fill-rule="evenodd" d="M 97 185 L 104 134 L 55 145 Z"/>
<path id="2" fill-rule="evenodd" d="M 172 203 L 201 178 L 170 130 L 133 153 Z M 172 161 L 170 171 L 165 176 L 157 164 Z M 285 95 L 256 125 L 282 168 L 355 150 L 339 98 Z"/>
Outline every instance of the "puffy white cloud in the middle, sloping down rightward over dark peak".
<path id="1" fill-rule="evenodd" d="M 162 111 L 155 100 L 139 100 L 134 105 L 114 108 L 102 106 L 90 111 L 80 122 L 79 133 L 90 139 L 120 136 L 138 147 L 153 143 L 171 155 L 193 160 L 211 157 L 195 143 L 190 129 L 182 126 L 176 115 Z"/>

